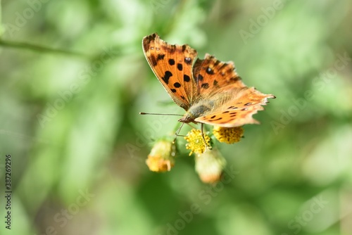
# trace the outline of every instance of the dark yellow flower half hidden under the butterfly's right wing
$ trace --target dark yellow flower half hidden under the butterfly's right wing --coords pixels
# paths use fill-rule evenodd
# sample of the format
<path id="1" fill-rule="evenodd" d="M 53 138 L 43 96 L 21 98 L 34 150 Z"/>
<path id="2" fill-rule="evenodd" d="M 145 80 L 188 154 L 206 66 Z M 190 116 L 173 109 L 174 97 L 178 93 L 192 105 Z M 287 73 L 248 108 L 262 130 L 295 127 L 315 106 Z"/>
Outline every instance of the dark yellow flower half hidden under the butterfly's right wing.
<path id="1" fill-rule="evenodd" d="M 218 141 L 226 144 L 234 144 L 241 140 L 244 129 L 242 127 L 218 127 L 213 128 L 213 134 Z"/>

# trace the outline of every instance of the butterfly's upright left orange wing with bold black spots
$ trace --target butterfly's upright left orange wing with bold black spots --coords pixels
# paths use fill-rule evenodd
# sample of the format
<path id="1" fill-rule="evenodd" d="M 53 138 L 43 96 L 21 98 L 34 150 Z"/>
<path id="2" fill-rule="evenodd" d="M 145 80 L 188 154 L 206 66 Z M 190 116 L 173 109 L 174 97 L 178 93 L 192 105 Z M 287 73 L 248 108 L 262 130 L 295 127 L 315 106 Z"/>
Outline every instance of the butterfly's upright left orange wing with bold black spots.
<path id="1" fill-rule="evenodd" d="M 172 45 L 154 33 L 142 41 L 144 56 L 175 103 L 189 109 L 197 93 L 192 65 L 197 52 L 188 45 Z"/>

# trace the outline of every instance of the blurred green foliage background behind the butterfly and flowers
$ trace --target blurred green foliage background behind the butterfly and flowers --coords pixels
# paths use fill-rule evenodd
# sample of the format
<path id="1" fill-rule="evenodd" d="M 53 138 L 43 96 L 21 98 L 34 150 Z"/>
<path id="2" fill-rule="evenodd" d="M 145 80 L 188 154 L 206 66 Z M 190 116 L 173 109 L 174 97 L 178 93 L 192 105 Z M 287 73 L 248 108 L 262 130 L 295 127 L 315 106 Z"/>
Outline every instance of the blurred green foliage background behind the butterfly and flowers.
<path id="1" fill-rule="evenodd" d="M 1 1 L 0 234 L 352 234 L 351 22 L 349 0 Z M 144 58 L 153 32 L 277 96 L 220 145 L 226 184 L 184 149 L 144 163 L 177 117 L 138 113 L 184 113 Z"/>

